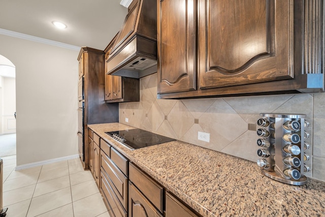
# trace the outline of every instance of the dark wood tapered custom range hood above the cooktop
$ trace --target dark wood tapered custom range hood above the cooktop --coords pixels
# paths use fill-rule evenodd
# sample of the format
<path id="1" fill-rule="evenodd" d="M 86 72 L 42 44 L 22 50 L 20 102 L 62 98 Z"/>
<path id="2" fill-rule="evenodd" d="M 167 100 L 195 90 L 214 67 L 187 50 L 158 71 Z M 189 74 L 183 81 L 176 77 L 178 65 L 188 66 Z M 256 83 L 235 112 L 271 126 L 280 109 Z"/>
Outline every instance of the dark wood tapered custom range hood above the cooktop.
<path id="1" fill-rule="evenodd" d="M 157 5 L 134 0 L 107 59 L 107 74 L 142 78 L 157 72 Z"/>

